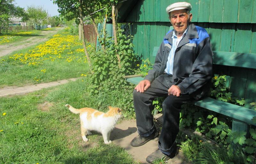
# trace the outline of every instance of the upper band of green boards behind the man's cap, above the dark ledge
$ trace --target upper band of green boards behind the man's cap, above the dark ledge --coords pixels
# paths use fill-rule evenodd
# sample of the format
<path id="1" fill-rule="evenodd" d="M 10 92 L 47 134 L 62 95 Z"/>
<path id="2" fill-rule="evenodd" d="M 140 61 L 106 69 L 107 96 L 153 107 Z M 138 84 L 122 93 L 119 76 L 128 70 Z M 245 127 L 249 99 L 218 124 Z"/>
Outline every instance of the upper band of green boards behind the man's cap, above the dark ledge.
<path id="1" fill-rule="evenodd" d="M 194 22 L 256 23 L 256 0 L 138 0 L 125 22 L 169 22 L 169 4 L 189 2 Z"/>

